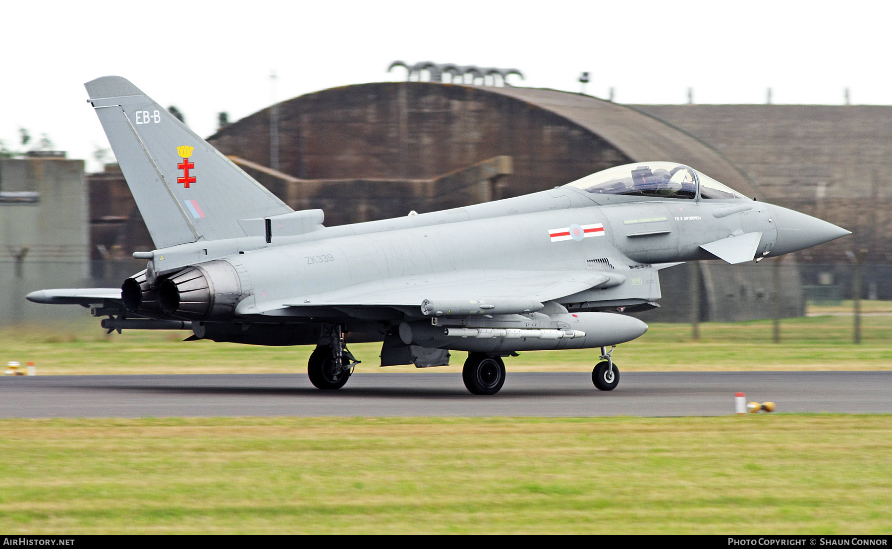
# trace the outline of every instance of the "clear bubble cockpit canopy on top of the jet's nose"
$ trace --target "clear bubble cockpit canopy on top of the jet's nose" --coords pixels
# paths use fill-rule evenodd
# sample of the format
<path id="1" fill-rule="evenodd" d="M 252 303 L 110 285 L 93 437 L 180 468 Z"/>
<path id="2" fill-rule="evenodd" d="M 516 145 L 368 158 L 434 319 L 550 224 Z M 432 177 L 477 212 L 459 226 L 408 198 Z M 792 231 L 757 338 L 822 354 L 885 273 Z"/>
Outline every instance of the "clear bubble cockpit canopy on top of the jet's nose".
<path id="1" fill-rule="evenodd" d="M 712 177 L 673 162 L 637 162 L 608 168 L 565 186 L 586 193 L 693 200 L 744 198 Z"/>

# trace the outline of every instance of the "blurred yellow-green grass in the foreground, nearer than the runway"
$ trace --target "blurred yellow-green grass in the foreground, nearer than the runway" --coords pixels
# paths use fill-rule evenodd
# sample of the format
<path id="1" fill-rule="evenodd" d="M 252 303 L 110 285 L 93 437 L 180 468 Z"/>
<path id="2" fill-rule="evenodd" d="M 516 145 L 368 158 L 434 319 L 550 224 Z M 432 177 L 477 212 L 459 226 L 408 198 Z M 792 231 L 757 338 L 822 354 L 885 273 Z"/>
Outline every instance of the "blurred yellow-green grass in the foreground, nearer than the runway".
<path id="1" fill-rule="evenodd" d="M 0 421 L 0 531 L 892 533 L 892 415 Z"/>

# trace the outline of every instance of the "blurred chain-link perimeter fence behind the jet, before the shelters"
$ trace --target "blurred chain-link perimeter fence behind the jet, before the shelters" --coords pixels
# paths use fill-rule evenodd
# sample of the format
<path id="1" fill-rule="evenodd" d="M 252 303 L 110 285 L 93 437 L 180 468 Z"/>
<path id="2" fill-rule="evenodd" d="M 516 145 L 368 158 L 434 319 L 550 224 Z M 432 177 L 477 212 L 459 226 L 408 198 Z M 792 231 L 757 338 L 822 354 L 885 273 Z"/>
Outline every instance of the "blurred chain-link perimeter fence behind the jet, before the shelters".
<path id="1" fill-rule="evenodd" d="M 853 299 L 855 262 L 797 264 L 790 259 L 727 265 L 720 261 L 682 264 L 659 272 L 660 307 L 639 314 L 645 322 L 734 322 L 805 315 L 806 305 L 839 305 Z M 47 306 L 25 299 L 50 288 L 120 288 L 145 261 L 83 262 L 0 260 L 0 324 L 82 318 L 82 307 Z M 860 299 L 892 300 L 892 265 L 861 266 Z"/>

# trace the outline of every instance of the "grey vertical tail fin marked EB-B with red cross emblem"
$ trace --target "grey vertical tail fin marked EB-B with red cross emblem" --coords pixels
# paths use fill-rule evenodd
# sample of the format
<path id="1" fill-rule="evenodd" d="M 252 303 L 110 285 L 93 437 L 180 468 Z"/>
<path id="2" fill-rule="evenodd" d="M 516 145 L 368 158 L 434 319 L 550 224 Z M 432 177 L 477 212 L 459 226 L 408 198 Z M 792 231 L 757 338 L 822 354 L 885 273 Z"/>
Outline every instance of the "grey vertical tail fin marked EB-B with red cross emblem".
<path id="1" fill-rule="evenodd" d="M 293 211 L 127 79 L 84 86 L 156 247 L 245 236 L 239 219 Z"/>

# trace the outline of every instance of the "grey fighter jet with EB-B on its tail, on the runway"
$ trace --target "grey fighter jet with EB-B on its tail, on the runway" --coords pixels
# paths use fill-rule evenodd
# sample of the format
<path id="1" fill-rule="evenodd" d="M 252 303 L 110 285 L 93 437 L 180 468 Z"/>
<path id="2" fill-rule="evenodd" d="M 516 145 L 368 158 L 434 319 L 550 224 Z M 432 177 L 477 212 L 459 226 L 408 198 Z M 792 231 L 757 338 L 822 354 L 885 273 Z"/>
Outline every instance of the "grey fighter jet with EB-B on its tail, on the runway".
<path id="1" fill-rule="evenodd" d="M 157 250 L 118 288 L 43 290 L 93 307 L 111 330 L 192 330 L 188 340 L 316 345 L 310 381 L 339 389 L 354 341 L 381 365 L 447 365 L 492 395 L 517 351 L 599 348 L 592 381 L 614 389 L 613 347 L 648 326 L 659 271 L 743 263 L 848 231 L 751 201 L 693 168 L 637 162 L 549 191 L 467 208 L 326 227 L 293 211 L 128 80 L 87 82 Z M 607 348 L 610 347 L 608 351 Z"/>

